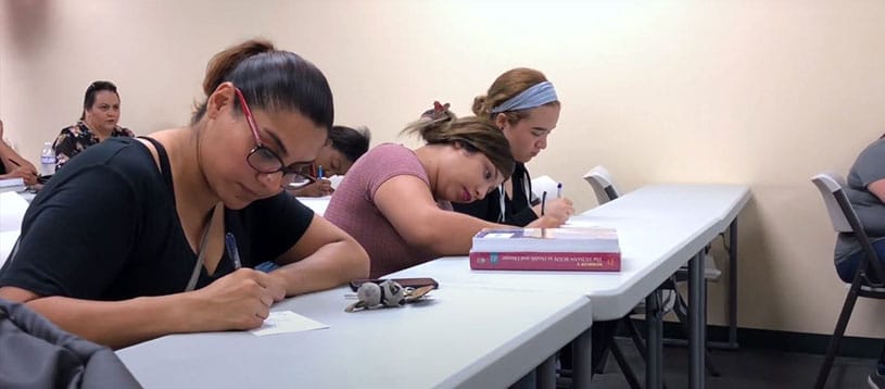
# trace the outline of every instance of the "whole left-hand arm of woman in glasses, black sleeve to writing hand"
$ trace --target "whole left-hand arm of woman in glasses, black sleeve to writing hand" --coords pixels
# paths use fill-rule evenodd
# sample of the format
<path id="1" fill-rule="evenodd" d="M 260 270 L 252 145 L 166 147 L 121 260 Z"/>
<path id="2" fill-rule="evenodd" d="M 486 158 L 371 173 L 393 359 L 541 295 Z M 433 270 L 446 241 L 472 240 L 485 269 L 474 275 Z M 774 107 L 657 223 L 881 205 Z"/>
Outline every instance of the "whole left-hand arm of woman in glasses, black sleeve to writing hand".
<path id="1" fill-rule="evenodd" d="M 18 250 L 0 273 L 1 298 L 25 302 L 61 328 L 114 348 L 172 332 L 257 327 L 282 298 L 266 274 L 241 269 L 192 292 L 100 301 L 127 276 L 132 252 L 153 249 L 139 234 L 143 215 L 137 210 L 144 203 L 130 175 L 116 168 L 71 173 L 76 179 L 31 203 Z"/>

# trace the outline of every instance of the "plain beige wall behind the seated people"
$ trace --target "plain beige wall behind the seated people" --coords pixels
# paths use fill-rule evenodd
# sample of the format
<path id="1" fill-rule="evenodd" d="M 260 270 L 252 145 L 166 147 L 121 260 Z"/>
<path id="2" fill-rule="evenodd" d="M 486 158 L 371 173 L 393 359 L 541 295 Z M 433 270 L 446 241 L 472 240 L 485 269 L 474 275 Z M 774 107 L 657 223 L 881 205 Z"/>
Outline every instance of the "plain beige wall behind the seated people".
<path id="1" fill-rule="evenodd" d="M 2 0 L 7 137 L 37 162 L 94 79 L 117 84 L 137 134 L 187 123 L 206 60 L 253 36 L 323 68 L 337 122 L 368 125 L 374 143 L 434 99 L 467 114 L 501 72 L 544 71 L 564 110 L 535 175 L 561 179 L 579 210 L 595 205 L 581 175 L 596 164 L 624 190 L 749 185 L 739 325 L 832 331 L 845 289 L 808 178 L 847 171 L 885 131 L 885 3 Z M 849 332 L 885 336 L 883 314 L 861 302 Z"/>

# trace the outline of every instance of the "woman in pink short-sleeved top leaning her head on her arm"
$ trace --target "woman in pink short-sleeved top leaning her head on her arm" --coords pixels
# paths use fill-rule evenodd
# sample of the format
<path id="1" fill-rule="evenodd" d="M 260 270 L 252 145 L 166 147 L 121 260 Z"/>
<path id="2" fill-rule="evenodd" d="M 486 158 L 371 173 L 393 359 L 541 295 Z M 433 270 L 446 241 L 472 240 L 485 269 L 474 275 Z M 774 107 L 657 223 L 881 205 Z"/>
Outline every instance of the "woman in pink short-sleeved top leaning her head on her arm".
<path id="1" fill-rule="evenodd" d="M 439 106 L 439 104 L 438 104 Z M 452 203 L 484 198 L 513 174 L 504 134 L 479 117 L 456 120 L 438 109 L 403 133 L 427 145 L 383 143 L 351 167 L 325 217 L 368 251 L 371 277 L 444 255 L 467 254 L 482 228 L 506 227 L 452 212 Z M 545 216 L 534 226 L 559 225 Z"/>

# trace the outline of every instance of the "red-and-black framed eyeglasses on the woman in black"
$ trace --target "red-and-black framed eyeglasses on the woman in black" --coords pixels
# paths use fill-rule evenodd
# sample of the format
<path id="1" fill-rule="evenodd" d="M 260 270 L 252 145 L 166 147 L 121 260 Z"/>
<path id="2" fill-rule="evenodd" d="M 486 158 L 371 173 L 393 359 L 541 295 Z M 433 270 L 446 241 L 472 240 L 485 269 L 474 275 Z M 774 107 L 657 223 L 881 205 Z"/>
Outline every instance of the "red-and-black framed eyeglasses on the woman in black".
<path id="1" fill-rule="evenodd" d="M 282 159 L 262 143 L 261 138 L 258 138 L 258 126 L 255 124 L 255 117 L 252 116 L 252 110 L 245 103 L 243 92 L 239 88 L 233 88 L 233 91 L 240 100 L 240 108 L 245 115 L 245 122 L 249 123 L 249 128 L 252 129 L 252 135 L 255 137 L 255 148 L 245 156 L 245 162 L 258 173 L 274 174 L 282 172 L 281 186 L 287 189 L 298 189 L 316 183 L 316 178 L 306 173 L 309 165 L 287 168 L 282 163 Z"/>

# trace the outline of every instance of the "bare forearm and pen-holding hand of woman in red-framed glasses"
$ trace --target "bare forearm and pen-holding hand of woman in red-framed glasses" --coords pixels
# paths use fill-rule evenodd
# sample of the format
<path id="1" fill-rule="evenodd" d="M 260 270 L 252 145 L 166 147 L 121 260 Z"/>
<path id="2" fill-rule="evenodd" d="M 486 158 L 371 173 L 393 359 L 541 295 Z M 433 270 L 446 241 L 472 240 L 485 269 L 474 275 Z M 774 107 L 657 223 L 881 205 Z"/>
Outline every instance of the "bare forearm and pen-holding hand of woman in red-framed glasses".
<path id="1" fill-rule="evenodd" d="M 271 284 L 266 274 L 241 269 L 195 291 L 123 301 L 40 297 L 10 286 L 0 288 L 0 298 L 24 302 L 68 332 L 119 349 L 168 334 L 258 327 L 281 298 L 266 287 Z"/>

